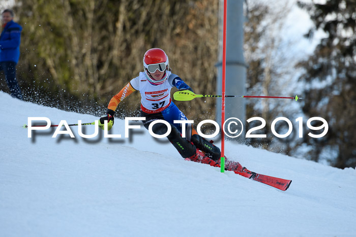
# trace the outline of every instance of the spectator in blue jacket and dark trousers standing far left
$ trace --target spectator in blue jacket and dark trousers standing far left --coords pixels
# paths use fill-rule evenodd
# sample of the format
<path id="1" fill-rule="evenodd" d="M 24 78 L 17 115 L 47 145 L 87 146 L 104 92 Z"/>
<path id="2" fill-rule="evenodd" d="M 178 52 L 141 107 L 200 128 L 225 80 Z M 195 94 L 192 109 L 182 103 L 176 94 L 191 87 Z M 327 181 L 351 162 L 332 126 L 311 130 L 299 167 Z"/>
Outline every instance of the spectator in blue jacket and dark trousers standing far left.
<path id="1" fill-rule="evenodd" d="M 14 12 L 6 9 L 2 13 L 3 31 L 0 36 L 0 71 L 12 97 L 22 99 L 21 89 L 16 81 L 16 64 L 20 57 L 20 35 L 22 27 L 13 21 Z"/>

